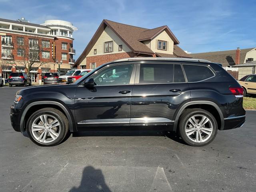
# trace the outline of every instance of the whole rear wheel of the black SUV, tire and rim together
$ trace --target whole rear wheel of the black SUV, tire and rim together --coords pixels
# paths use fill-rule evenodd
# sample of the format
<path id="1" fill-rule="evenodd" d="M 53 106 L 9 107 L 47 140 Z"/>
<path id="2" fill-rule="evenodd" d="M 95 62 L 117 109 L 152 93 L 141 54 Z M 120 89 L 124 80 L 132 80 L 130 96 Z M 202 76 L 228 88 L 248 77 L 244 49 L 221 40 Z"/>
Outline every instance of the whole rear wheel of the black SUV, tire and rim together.
<path id="1" fill-rule="evenodd" d="M 196 124 L 194 123 L 193 117 L 196 120 Z M 207 121 L 200 126 L 200 122 L 203 119 Z M 192 120 L 192 122 L 190 122 L 190 120 Z M 181 138 L 188 145 L 196 147 L 206 146 L 214 140 L 217 131 L 218 124 L 216 119 L 206 110 L 200 108 L 188 109 L 180 116 L 179 133 Z"/>

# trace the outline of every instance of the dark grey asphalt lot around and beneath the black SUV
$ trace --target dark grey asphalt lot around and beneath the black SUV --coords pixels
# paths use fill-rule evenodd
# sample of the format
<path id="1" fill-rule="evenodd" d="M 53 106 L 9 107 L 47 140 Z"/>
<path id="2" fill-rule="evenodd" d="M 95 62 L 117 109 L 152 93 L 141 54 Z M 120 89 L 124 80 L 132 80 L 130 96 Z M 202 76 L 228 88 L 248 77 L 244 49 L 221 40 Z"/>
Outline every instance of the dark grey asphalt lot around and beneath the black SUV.
<path id="1" fill-rule="evenodd" d="M 21 88 L 0 88 L 0 191 L 256 191 L 256 111 L 201 148 L 156 131 L 82 132 L 39 147 L 10 124 Z"/>

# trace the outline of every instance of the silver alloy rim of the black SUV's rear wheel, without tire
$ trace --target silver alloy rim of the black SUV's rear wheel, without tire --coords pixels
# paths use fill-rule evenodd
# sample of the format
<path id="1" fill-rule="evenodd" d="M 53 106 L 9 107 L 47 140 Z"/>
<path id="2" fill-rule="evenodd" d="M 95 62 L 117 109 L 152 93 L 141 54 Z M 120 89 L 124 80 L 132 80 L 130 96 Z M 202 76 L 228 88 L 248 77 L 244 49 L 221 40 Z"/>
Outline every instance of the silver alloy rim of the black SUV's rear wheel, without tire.
<path id="1" fill-rule="evenodd" d="M 213 132 L 211 120 L 204 115 L 191 116 L 185 127 L 186 136 L 194 142 L 207 141 Z"/>

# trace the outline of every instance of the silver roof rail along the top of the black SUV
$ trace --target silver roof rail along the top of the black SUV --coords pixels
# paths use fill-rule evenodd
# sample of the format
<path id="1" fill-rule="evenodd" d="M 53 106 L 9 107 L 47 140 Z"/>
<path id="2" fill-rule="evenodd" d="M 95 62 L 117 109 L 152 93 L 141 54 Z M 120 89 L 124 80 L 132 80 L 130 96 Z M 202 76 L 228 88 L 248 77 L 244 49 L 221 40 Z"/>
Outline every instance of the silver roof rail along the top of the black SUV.
<path id="1" fill-rule="evenodd" d="M 177 60 L 177 61 L 196 61 L 196 62 L 208 62 L 211 63 L 208 60 L 205 59 L 192 59 L 192 58 L 169 58 L 169 57 L 132 57 L 132 58 L 123 58 L 123 59 L 118 59 L 114 60 L 114 62 L 118 61 L 135 61 L 135 60 Z"/>

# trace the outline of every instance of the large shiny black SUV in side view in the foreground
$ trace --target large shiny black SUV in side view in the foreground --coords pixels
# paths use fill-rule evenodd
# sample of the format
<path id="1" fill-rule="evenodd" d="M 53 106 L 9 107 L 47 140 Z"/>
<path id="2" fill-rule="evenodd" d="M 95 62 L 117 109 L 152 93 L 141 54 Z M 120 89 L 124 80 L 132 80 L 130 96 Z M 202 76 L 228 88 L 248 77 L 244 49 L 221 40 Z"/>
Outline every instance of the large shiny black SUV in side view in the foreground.
<path id="1" fill-rule="evenodd" d="M 217 130 L 242 126 L 245 110 L 243 88 L 220 64 L 129 58 L 103 64 L 72 84 L 20 90 L 10 117 L 14 130 L 26 131 L 40 146 L 59 144 L 68 131 L 96 128 L 168 130 L 204 146 Z"/>

